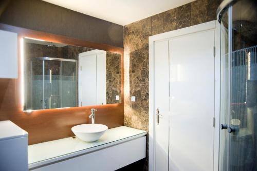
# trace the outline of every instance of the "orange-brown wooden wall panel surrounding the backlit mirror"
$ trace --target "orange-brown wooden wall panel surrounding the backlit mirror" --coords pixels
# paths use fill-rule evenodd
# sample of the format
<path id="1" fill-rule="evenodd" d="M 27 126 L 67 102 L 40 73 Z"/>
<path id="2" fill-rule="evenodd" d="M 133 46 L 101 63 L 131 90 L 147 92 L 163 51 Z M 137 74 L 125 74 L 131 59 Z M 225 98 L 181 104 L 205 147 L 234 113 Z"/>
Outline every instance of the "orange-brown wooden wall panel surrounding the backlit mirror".
<path id="1" fill-rule="evenodd" d="M 85 42 L 70 37 L 54 35 L 0 24 L 0 29 L 19 34 L 19 78 L 0 79 L 0 120 L 11 120 L 29 133 L 29 144 L 56 140 L 74 136 L 71 127 L 78 124 L 90 123 L 88 115 L 90 108 L 96 108 L 96 123 L 105 124 L 109 128 L 124 125 L 123 105 L 123 48 Z M 121 53 L 121 99 L 120 104 L 101 106 L 71 107 L 62 109 L 34 110 L 31 113 L 23 111 L 21 86 L 21 44 L 22 37 L 33 37 L 45 41 L 84 46 L 95 49 Z"/>

